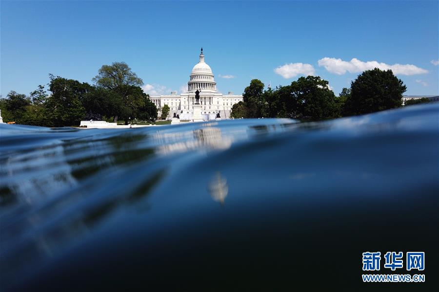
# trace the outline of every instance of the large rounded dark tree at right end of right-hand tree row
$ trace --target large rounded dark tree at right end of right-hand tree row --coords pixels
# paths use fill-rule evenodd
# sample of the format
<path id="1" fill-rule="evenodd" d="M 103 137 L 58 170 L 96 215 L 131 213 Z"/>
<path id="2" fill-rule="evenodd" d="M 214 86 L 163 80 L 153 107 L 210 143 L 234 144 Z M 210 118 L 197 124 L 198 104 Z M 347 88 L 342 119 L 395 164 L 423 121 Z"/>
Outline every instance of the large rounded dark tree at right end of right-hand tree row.
<path id="1" fill-rule="evenodd" d="M 402 94 L 407 90 L 392 70 L 368 70 L 351 83 L 351 94 L 346 100 L 345 113 L 366 114 L 402 106 Z"/>

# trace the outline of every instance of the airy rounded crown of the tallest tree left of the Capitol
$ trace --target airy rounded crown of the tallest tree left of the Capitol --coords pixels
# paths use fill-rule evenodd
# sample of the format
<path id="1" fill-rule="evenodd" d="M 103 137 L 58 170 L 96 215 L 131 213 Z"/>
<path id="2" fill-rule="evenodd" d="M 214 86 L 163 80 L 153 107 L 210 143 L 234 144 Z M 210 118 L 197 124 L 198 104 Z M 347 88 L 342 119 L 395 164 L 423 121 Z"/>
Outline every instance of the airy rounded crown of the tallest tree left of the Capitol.
<path id="1" fill-rule="evenodd" d="M 98 87 L 120 91 L 123 86 L 142 86 L 143 81 L 125 62 L 113 62 L 102 65 L 98 75 L 93 78 Z M 126 89 L 126 88 L 125 88 Z"/>

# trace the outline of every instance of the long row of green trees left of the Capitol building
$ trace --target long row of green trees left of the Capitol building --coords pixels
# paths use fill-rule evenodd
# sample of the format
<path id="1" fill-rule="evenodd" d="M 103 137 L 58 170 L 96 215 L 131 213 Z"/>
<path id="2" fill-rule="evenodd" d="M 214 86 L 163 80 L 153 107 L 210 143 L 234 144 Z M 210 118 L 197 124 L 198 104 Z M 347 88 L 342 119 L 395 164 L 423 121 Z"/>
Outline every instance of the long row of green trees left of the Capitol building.
<path id="1" fill-rule="evenodd" d="M 4 122 L 63 127 L 81 120 L 116 122 L 137 118 L 157 119 L 157 107 L 144 93 L 136 73 L 124 62 L 103 65 L 93 78 L 94 85 L 49 74 L 47 91 L 43 85 L 28 96 L 10 91 L 0 99 Z"/>

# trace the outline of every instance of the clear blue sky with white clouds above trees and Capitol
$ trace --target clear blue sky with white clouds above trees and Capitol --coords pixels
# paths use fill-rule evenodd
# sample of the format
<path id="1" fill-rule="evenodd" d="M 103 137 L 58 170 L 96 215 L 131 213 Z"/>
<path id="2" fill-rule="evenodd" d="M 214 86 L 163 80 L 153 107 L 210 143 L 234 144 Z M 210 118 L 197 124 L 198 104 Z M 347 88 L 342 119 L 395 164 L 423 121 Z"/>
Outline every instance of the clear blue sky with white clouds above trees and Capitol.
<path id="1" fill-rule="evenodd" d="M 114 61 L 126 62 L 148 93 L 180 91 L 201 46 L 223 93 L 242 93 L 253 78 L 274 87 L 313 74 L 338 94 L 379 64 L 404 81 L 405 94 L 439 94 L 439 1 L 0 5 L 3 97 L 11 90 L 28 94 L 47 84 L 49 73 L 92 83 Z"/>

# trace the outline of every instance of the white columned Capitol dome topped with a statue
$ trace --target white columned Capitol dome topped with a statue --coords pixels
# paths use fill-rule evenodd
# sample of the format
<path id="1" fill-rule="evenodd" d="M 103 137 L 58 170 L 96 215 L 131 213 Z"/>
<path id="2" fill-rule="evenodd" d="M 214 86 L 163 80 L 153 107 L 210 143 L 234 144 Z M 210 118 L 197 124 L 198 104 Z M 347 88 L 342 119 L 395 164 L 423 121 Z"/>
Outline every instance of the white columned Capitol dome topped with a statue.
<path id="1" fill-rule="evenodd" d="M 204 62 L 203 48 L 201 48 L 200 61 L 192 68 L 192 73 L 187 83 L 188 92 L 208 91 L 217 92 L 217 83 L 209 65 Z"/>

